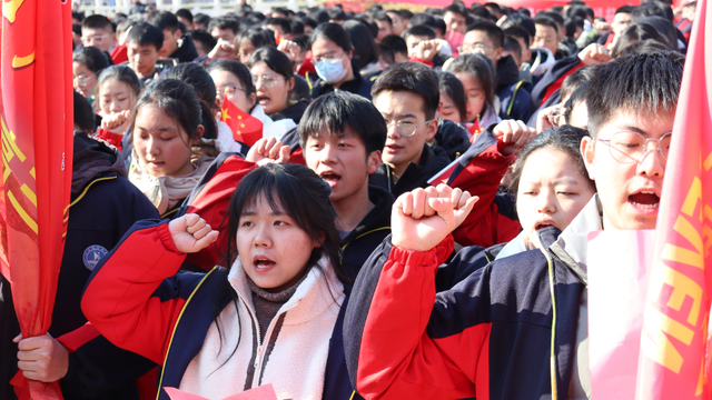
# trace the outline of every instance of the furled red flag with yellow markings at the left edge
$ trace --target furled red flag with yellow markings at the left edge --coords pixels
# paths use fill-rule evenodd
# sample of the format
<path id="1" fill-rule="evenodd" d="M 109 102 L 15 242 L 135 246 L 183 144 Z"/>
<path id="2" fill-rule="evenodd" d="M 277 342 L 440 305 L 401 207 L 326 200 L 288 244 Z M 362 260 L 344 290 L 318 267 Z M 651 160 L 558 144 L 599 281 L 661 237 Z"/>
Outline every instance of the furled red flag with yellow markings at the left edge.
<path id="1" fill-rule="evenodd" d="M 40 7 L 41 6 L 41 7 Z M 2 2 L 0 272 L 28 338 L 50 327 L 71 188 L 71 3 Z M 61 398 L 57 382 L 13 384 L 21 399 Z"/>

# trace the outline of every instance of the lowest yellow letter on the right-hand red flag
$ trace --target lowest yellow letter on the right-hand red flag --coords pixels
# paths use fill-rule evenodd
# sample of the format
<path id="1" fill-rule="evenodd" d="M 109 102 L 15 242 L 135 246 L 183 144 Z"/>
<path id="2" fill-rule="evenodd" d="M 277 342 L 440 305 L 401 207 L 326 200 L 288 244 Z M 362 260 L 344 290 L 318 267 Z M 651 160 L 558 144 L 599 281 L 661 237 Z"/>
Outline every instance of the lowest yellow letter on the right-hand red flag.
<path id="1" fill-rule="evenodd" d="M 643 352 L 659 364 L 680 373 L 684 360 L 665 333 L 690 346 L 694 332 L 652 306 L 645 309 L 643 321 L 645 324 L 641 337 Z"/>

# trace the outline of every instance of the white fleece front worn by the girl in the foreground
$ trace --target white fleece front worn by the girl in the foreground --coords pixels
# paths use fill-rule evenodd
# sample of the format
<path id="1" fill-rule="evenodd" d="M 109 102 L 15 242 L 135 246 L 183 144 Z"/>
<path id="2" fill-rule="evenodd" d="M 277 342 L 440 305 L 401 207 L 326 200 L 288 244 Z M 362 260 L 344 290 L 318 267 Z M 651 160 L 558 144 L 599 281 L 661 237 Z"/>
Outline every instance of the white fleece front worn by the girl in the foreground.
<path id="1" fill-rule="evenodd" d="M 237 310 L 230 302 L 220 313 L 222 337 L 215 322 L 210 326 L 202 349 L 184 373 L 180 390 L 219 400 L 271 383 L 280 400 L 322 399 L 329 340 L 344 301 L 344 287 L 326 259 L 319 264 L 326 274 L 317 268 L 308 272 L 259 344 L 253 296 L 238 259 L 228 276 L 239 299 Z"/>

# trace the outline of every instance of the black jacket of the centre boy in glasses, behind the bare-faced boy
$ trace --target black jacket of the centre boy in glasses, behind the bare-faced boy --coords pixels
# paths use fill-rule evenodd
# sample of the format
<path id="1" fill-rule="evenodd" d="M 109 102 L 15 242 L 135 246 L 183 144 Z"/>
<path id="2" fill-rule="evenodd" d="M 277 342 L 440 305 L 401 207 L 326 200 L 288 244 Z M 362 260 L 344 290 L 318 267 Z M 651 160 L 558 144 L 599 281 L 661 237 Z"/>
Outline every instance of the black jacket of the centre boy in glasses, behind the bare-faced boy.
<path id="1" fill-rule="evenodd" d="M 372 174 L 368 183 L 388 190 L 393 197 L 408 192 L 416 188 L 427 188 L 428 179 L 433 178 L 449 163 L 447 153 L 438 146 L 423 144 L 423 154 L 417 164 L 411 163 L 397 182 L 393 180 L 393 169 L 382 163 Z"/>

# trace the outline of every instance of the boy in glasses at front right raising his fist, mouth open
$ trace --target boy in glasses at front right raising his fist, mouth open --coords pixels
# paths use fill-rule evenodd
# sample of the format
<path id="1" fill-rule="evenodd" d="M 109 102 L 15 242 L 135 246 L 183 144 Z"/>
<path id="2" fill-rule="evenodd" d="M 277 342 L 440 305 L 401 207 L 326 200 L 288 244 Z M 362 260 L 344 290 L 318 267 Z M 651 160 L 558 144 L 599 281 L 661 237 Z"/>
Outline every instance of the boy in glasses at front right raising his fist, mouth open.
<path id="1" fill-rule="evenodd" d="M 447 188 L 414 191 L 417 216 L 404 216 L 417 202 L 396 200 L 404 212 L 394 213 L 393 238 L 404 244 L 386 241 L 362 268 L 344 323 L 353 332 L 347 367 L 362 396 L 591 399 L 587 234 L 655 228 L 683 64 L 683 56 L 664 51 L 597 67 L 581 152 L 599 193 L 563 232 L 541 229 L 538 249 L 496 259 L 436 294 L 448 232 L 472 201 L 456 191 L 445 200 Z M 408 250 L 421 249 L 417 242 L 432 249 Z M 446 268 L 471 262 L 464 250 Z"/>

